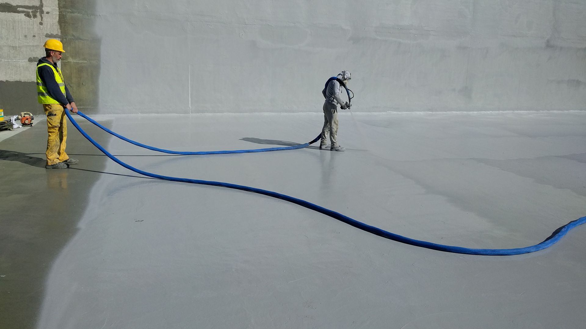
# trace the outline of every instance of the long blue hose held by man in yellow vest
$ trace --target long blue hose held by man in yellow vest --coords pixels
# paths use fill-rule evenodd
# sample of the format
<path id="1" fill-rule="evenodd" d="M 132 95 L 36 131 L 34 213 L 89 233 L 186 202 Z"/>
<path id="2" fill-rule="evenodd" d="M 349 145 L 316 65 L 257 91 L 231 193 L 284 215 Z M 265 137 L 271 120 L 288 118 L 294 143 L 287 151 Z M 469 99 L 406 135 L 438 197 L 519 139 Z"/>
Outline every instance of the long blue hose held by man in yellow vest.
<path id="1" fill-rule="evenodd" d="M 227 187 L 229 189 L 243 190 L 243 191 L 263 194 L 265 196 L 279 198 L 281 200 L 289 201 L 291 203 L 301 205 L 302 207 L 317 211 L 318 213 L 328 215 L 329 217 L 332 217 L 332 218 L 335 218 L 336 220 L 345 222 L 346 224 L 352 225 L 353 227 L 362 229 L 366 232 L 370 232 L 372 234 L 379 235 L 380 237 L 391 239 L 391 240 L 397 241 L 397 242 L 402 242 L 402 243 L 408 244 L 408 245 L 420 246 L 423 248 L 434 249 L 434 250 L 445 251 L 445 252 L 465 253 L 468 255 L 486 255 L 486 256 L 520 255 L 522 253 L 530 253 L 530 252 L 540 251 L 541 249 L 546 249 L 546 248 L 552 246 L 553 244 L 555 244 L 556 242 L 560 241 L 560 239 L 563 238 L 564 235 L 567 234 L 568 231 L 570 231 L 570 229 L 573 229 L 574 227 L 577 227 L 578 225 L 584 224 L 584 222 L 586 222 L 586 217 L 581 217 L 578 220 L 571 221 L 568 224 L 565 224 L 563 227 L 558 228 L 554 232 L 554 234 L 550 235 L 550 237 L 548 237 L 545 241 L 541 242 L 540 244 L 527 246 L 524 248 L 474 249 L 474 248 L 464 248 L 464 247 L 459 247 L 459 246 L 440 245 L 440 244 L 434 244 L 432 242 L 415 240 L 415 239 L 403 237 L 402 235 L 391 233 L 389 231 L 385 231 L 384 229 L 380 229 L 377 227 L 373 227 L 373 226 L 364 224 L 363 222 L 353 220 L 352 218 L 347 217 L 346 215 L 336 213 L 335 211 L 320 207 L 319 205 L 310 203 L 305 200 L 301 200 L 299 198 L 290 197 L 285 194 L 281 194 L 281 193 L 277 193 L 277 192 L 273 192 L 273 191 L 262 190 L 262 189 L 256 189 L 254 187 L 248 187 L 248 186 L 243 186 L 243 185 L 223 183 L 221 181 L 197 180 L 197 179 L 179 178 L 179 177 L 171 177 L 171 176 L 162 176 L 162 175 L 158 175 L 158 174 L 154 174 L 154 173 L 145 172 L 143 170 L 132 167 L 132 166 L 128 165 L 127 163 L 122 162 L 117 157 L 111 155 L 110 152 L 105 150 L 103 148 L 103 146 L 98 144 L 96 142 L 96 140 L 91 138 L 83 129 L 81 129 L 79 124 L 77 124 L 77 122 L 71 117 L 71 114 L 69 114 L 69 111 L 65 111 L 65 112 L 67 114 L 67 117 L 71 121 L 71 124 L 73 124 L 77 128 L 77 130 L 81 133 L 81 135 L 83 135 L 85 138 L 87 138 L 87 140 L 89 140 L 94 146 L 96 146 L 96 148 L 98 148 L 102 153 L 104 153 L 110 159 L 114 160 L 114 162 L 118 163 L 118 165 L 121 165 L 122 167 L 125 167 L 126 169 L 132 170 L 135 173 L 139 173 L 144 176 L 153 177 L 156 179 L 179 181 L 182 183 L 192 183 L 192 184 Z M 130 139 L 126 139 L 126 138 L 118 135 L 117 133 L 111 132 L 109 129 L 105 128 L 104 126 L 101 126 L 100 124 L 98 124 L 98 122 L 88 118 L 86 115 L 82 114 L 81 112 L 77 112 L 77 113 L 79 115 L 83 116 L 84 118 L 90 120 L 90 122 L 99 126 L 100 128 L 104 129 L 105 131 L 112 133 L 114 136 L 117 136 L 119 138 L 122 138 L 122 139 L 130 142 Z M 173 151 L 169 151 L 169 150 L 161 150 L 161 149 L 151 148 L 151 146 L 142 145 L 137 142 L 131 142 L 131 143 L 138 145 L 138 146 L 148 148 L 148 149 L 159 150 L 159 152 L 165 152 L 165 153 L 172 153 L 173 152 Z M 303 144 L 303 145 L 305 145 L 305 144 Z M 289 148 L 284 148 L 284 149 L 289 149 Z M 266 150 L 270 150 L 270 149 L 266 149 Z M 220 152 L 237 153 L 236 151 L 220 151 Z M 255 150 L 254 152 L 264 152 L 264 151 Z M 183 154 L 183 153 L 176 153 L 176 154 Z M 200 152 L 189 152 L 189 154 L 201 154 L 201 153 Z M 205 154 L 217 154 L 217 153 L 208 152 Z"/>

